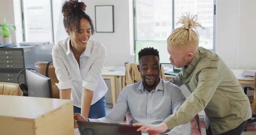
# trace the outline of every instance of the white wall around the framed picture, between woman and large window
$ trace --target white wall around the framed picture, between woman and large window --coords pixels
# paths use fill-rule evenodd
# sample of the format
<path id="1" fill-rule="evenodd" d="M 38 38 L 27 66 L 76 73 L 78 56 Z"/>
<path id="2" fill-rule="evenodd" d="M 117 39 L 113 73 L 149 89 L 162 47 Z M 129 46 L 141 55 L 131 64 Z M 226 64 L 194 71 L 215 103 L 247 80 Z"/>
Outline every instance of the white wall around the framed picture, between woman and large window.
<path id="1" fill-rule="evenodd" d="M 107 48 L 105 66 L 124 66 L 125 62 L 134 62 L 130 55 L 133 45 L 130 35 L 129 3 L 131 0 L 82 0 L 87 5 L 85 12 L 95 21 L 95 5 L 114 5 L 114 33 L 95 32 L 93 38 Z M 104 23 L 104 22 L 103 22 Z M 133 34 L 133 33 L 132 33 Z"/>

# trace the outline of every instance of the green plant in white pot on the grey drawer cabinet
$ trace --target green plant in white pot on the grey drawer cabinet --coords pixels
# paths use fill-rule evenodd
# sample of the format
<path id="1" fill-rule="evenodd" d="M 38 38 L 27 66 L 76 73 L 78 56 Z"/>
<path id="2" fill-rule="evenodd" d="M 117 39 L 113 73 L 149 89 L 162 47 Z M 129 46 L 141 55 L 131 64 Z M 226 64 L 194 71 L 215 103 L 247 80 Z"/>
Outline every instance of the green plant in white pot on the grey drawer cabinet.
<path id="1" fill-rule="evenodd" d="M 0 35 L 2 36 L 3 45 L 12 43 L 11 32 L 16 30 L 16 26 L 7 23 L 6 19 L 3 19 L 3 23 L 0 24 Z"/>

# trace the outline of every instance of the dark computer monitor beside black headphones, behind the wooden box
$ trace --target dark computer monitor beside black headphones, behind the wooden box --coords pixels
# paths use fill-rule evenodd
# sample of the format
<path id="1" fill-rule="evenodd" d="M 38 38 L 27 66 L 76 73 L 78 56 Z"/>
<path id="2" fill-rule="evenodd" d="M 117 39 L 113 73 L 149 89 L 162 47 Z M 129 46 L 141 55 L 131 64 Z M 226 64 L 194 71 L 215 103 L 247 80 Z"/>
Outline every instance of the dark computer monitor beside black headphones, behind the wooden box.
<path id="1" fill-rule="evenodd" d="M 33 70 L 26 70 L 28 96 L 53 98 L 51 79 Z"/>

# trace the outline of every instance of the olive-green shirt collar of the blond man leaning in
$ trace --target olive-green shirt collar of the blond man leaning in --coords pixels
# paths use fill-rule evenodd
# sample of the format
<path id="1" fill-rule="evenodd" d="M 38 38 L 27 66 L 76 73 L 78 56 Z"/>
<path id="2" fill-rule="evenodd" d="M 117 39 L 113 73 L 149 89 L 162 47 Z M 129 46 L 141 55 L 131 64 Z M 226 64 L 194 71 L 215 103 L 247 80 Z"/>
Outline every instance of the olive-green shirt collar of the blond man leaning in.
<path id="1" fill-rule="evenodd" d="M 187 74 L 191 74 L 196 68 L 199 61 L 200 61 L 200 49 L 198 48 L 196 54 L 194 55 L 194 58 L 192 59 L 188 67 L 186 69 L 182 67 L 182 70 L 185 71 Z"/>

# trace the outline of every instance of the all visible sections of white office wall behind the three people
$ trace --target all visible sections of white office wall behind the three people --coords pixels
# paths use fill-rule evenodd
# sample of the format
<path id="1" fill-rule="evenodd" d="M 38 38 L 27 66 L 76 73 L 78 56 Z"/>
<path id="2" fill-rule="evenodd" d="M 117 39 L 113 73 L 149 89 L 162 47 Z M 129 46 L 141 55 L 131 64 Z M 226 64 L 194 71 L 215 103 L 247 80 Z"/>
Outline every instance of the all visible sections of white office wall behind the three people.
<path id="1" fill-rule="evenodd" d="M 95 5 L 114 5 L 114 33 L 95 33 L 92 38 L 107 48 L 105 66 L 123 66 L 133 62 L 130 53 L 131 0 L 82 0 L 87 5 L 86 13 L 95 20 Z M 217 0 L 216 53 L 232 69 L 256 69 L 256 0 Z M 131 8 L 131 7 L 130 7 Z M 14 23 L 13 1 L 0 0 L 0 21 L 6 17 Z M 15 42 L 13 34 L 13 42 Z"/>

